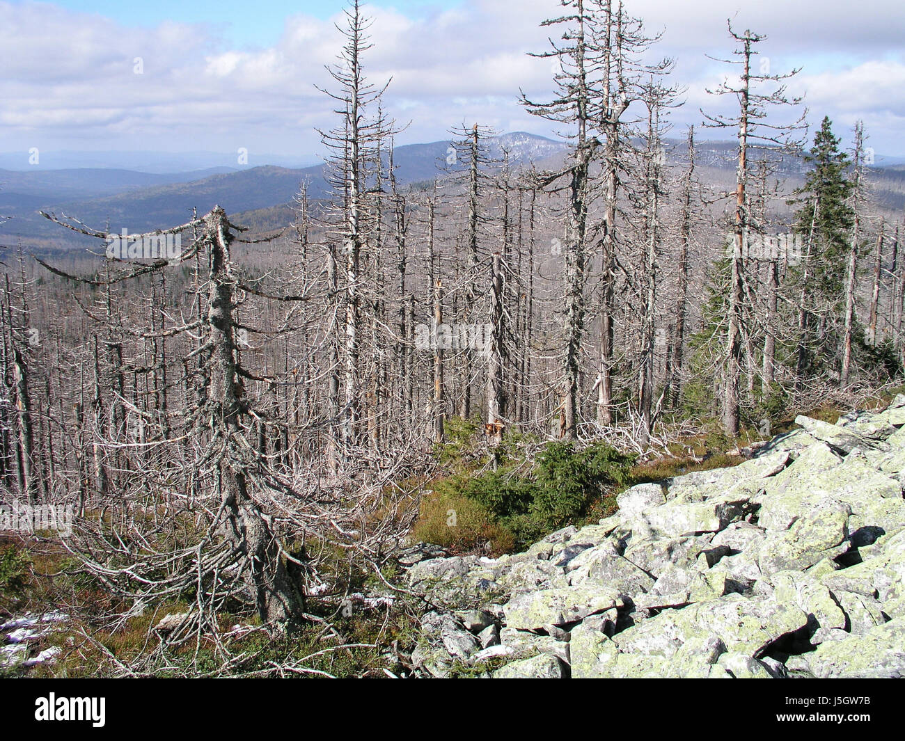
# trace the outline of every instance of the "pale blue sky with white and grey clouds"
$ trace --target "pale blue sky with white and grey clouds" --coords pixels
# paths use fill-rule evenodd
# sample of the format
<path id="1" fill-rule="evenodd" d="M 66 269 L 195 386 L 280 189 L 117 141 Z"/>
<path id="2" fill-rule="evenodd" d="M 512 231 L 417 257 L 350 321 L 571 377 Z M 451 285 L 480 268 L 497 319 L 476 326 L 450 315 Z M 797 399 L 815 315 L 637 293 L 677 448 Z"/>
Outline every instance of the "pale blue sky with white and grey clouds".
<path id="1" fill-rule="evenodd" d="M 316 129 L 334 126 L 325 65 L 337 62 L 345 3 L 337 0 L 0 0 L 0 152 L 216 151 L 318 157 Z M 901 0 L 625 0 L 648 32 L 653 57 L 675 60 L 684 105 L 673 136 L 700 125 L 700 109 L 730 112 L 706 92 L 731 56 L 727 19 L 767 35 L 771 72 L 801 71 L 812 133 L 828 115 L 850 140 L 858 119 L 877 153 L 905 157 L 905 10 Z M 548 47 L 540 22 L 558 0 L 374 0 L 369 81 L 386 113 L 407 128 L 397 144 L 449 138 L 474 122 L 551 136 L 519 105 L 546 99 Z M 710 56 L 709 56 L 710 55 Z M 334 85 L 335 87 L 335 85 Z M 704 136 L 707 136 L 705 134 Z M 713 138 L 717 134 L 710 133 Z M 47 156 L 51 156 L 47 154 Z M 237 157 L 238 162 L 238 157 Z M 46 164 L 43 162 L 42 164 Z M 239 163 L 242 164 L 242 163 Z"/>

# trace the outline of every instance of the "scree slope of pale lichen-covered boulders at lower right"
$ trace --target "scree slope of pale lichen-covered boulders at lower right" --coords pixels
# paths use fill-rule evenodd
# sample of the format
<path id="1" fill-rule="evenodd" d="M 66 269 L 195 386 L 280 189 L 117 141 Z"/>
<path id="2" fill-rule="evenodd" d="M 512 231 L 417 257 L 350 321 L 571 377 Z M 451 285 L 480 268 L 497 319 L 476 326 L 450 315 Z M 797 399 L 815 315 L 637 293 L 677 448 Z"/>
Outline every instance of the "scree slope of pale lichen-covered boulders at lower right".
<path id="1" fill-rule="evenodd" d="M 905 396 L 798 417 L 737 467 L 641 484 L 499 559 L 429 557 L 434 677 L 905 676 Z M 415 560 L 415 559 L 412 559 Z"/>

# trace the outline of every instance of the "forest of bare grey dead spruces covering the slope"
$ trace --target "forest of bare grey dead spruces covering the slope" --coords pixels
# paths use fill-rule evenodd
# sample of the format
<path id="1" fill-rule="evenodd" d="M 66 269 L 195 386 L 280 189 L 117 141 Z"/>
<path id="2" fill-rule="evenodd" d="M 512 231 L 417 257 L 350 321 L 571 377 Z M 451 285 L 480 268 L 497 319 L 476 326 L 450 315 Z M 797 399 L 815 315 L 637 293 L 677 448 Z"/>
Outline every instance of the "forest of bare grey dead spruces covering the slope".
<path id="1" fill-rule="evenodd" d="M 398 183 L 354 3 L 328 201 L 302 184 L 294 223 L 254 238 L 214 208 L 129 235 L 90 274 L 7 256 L 6 495 L 77 507 L 67 546 L 111 590 L 187 595 L 170 641 L 216 635 L 237 603 L 272 626 L 314 619 L 306 598 L 343 597 L 329 562 L 379 574 L 454 417 L 489 451 L 516 430 L 645 451 L 690 416 L 735 436 L 900 372 L 900 223 L 870 206 L 862 129 L 834 159 L 845 214 L 824 223 L 829 191 L 779 181 L 800 161 L 794 71 L 730 27 L 740 73 L 714 92 L 739 109 L 705 126 L 738 132 L 737 183 L 716 192 L 700 132 L 667 137 L 681 90 L 670 60 L 642 61 L 656 36 L 609 0 L 561 5 L 536 52 L 557 62 L 553 96 L 522 96 L 570 137 L 557 170 L 491 158 L 475 124 L 436 182 Z"/>

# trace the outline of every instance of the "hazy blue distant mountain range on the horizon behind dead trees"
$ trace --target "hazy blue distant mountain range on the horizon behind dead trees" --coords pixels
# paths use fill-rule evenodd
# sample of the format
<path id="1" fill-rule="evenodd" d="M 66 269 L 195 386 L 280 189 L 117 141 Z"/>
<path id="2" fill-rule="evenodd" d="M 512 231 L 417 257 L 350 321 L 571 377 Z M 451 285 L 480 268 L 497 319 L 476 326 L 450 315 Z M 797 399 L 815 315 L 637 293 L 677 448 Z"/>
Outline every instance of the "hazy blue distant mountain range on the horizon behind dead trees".
<path id="1" fill-rule="evenodd" d="M 685 157 L 684 143 L 664 142 L 671 160 Z M 395 172 L 401 185 L 430 182 L 449 173 L 449 140 L 395 147 Z M 539 167 L 556 166 L 567 151 L 567 144 L 525 132 L 503 134 L 487 140 L 491 159 L 510 155 L 514 166 L 535 163 Z M 736 145 L 733 142 L 702 141 L 697 147 L 700 166 L 710 168 L 724 179 L 735 170 Z M 458 163 L 461 166 L 462 163 Z M 456 165 L 452 166 L 454 169 Z M 722 171 L 719 175 L 714 171 Z M 786 176 L 800 179 L 804 166 L 789 160 L 783 167 Z M 112 231 L 126 228 L 130 233 L 148 231 L 186 222 L 195 207 L 199 214 L 215 204 L 227 213 L 239 214 L 291 204 L 300 183 L 308 184 L 310 198 L 329 195 L 326 166 L 302 168 L 256 166 L 233 169 L 221 166 L 177 173 L 148 173 L 116 168 L 79 168 L 61 170 L 0 170 L 0 215 L 12 217 L 0 228 L 3 243 L 21 237 L 47 246 L 48 242 L 73 243 L 72 233 L 63 230 L 36 212 L 68 214 L 95 228 Z M 905 199 L 905 166 L 889 166 L 877 172 L 883 202 L 899 208 Z M 267 219 L 263 219 L 264 222 Z M 68 238 L 68 239 L 65 239 Z M 78 242 L 77 240 L 75 242 Z"/>

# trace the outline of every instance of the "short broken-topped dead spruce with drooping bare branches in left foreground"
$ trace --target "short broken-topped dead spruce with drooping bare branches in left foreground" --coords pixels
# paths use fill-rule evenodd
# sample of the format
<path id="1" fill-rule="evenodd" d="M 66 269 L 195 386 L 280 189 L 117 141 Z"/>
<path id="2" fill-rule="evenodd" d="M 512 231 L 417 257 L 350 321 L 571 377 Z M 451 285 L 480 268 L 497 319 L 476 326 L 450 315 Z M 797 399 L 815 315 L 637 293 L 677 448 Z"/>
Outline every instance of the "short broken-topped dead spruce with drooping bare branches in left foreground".
<path id="1" fill-rule="evenodd" d="M 117 237 L 45 215 L 108 242 Z M 377 541 L 398 538 L 405 523 L 400 531 L 380 526 L 366 533 L 373 508 L 362 504 L 363 492 L 349 496 L 321 489 L 308 465 L 278 470 L 274 461 L 279 459 L 257 442 L 260 425 L 271 430 L 288 424 L 262 411 L 260 398 L 247 386 L 283 379 L 256 375 L 240 362 L 241 337 L 256 330 L 239 320 L 237 309 L 250 294 L 283 301 L 306 301 L 313 294 L 306 288 L 300 295 L 269 296 L 243 280 L 230 252 L 234 234 L 241 230 L 219 207 L 174 229 L 129 239 L 140 243 L 187 230 L 197 230 L 197 238 L 176 261 L 201 256 L 208 265 L 199 315 L 178 326 L 128 331 L 137 339 L 199 337 L 197 345 L 184 342 L 185 355 L 171 364 L 186 368 L 180 382 L 201 394 L 186 394 L 189 405 L 171 410 L 166 424 L 157 416 L 142 415 L 147 432 L 143 442 L 130 447 L 167 451 L 166 461 L 157 456 L 156 465 L 136 467 L 115 497 L 92 492 L 90 509 L 102 513 L 110 507 L 116 515 L 86 518 L 69 546 L 117 594 L 139 602 L 192 595 L 190 611 L 170 641 L 185 640 L 193 628 L 215 636 L 219 613 L 236 599 L 252 604 L 262 622 L 281 631 L 304 620 L 304 584 L 313 568 L 291 551 L 291 544 L 329 541 L 350 550 L 361 548 L 373 558 L 382 548 Z M 169 263 L 138 263 L 110 280 L 97 280 L 77 279 L 42 262 L 58 275 L 99 287 L 159 274 Z M 196 367 L 188 362 L 195 358 Z M 138 411 L 132 404 L 131 412 Z M 305 429 L 293 432 L 300 435 Z M 110 440 L 100 445 L 117 447 Z M 378 482 L 376 490 L 384 485 Z M 386 497 L 378 499 L 383 508 L 396 507 Z M 368 533 L 375 532 L 376 539 L 368 540 Z"/>

